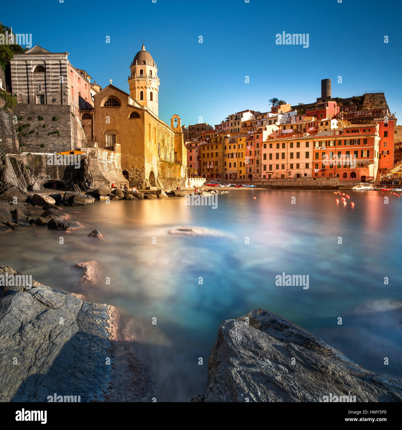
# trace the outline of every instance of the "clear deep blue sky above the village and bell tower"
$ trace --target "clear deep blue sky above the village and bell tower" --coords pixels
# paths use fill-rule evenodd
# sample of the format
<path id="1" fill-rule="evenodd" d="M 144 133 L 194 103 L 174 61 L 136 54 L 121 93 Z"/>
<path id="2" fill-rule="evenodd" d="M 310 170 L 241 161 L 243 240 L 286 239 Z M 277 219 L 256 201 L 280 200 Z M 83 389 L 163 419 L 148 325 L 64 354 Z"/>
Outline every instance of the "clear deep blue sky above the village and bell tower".
<path id="1" fill-rule="evenodd" d="M 126 92 L 144 38 L 159 69 L 159 116 L 169 124 L 178 114 L 182 124 L 202 117 L 215 125 L 236 111 L 266 111 L 272 97 L 315 101 L 323 78 L 332 79 L 333 97 L 384 90 L 401 116 L 401 3 L 338 1 L 48 0 L 33 7 L 24 0 L 18 14 L 17 3 L 4 3 L 0 20 L 31 33 L 33 45 L 69 52 L 74 67 L 102 87 L 111 78 Z M 276 45 L 282 31 L 308 34 L 309 47 Z"/>

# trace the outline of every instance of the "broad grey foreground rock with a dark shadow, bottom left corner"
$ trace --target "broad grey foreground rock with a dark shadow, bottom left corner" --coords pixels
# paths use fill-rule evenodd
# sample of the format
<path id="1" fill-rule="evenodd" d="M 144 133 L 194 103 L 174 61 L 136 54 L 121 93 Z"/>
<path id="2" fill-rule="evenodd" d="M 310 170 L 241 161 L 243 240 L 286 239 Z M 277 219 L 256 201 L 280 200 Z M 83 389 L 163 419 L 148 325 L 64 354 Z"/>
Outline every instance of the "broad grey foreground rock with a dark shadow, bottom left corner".
<path id="1" fill-rule="evenodd" d="M 48 286 L 6 291 L 0 297 L 0 402 L 47 402 L 54 393 L 81 402 L 152 402 L 149 369 L 120 335 L 118 319 L 113 306 Z"/>

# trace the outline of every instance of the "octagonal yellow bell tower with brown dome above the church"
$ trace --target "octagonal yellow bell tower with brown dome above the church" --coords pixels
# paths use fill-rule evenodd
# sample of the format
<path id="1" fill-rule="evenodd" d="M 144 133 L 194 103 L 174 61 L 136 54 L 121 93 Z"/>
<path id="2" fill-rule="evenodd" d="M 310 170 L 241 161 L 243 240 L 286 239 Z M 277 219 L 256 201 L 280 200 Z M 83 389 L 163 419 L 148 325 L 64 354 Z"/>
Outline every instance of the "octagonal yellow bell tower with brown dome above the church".
<path id="1" fill-rule="evenodd" d="M 144 43 L 141 51 L 135 54 L 130 71 L 128 82 L 131 97 L 158 116 L 158 68 L 152 55 L 145 50 Z"/>

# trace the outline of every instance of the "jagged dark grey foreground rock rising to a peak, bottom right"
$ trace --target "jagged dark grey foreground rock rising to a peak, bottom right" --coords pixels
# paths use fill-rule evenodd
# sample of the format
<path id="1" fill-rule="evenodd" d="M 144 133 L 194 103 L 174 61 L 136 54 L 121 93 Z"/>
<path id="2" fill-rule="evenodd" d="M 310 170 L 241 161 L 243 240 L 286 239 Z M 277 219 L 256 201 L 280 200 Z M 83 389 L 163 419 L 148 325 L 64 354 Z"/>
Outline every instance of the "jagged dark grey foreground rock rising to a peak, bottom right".
<path id="1" fill-rule="evenodd" d="M 356 402 L 402 401 L 402 381 L 363 369 L 264 309 L 221 323 L 208 368 L 205 394 L 190 401 L 323 402 L 331 393 L 345 396 L 343 401 L 349 396 Z"/>

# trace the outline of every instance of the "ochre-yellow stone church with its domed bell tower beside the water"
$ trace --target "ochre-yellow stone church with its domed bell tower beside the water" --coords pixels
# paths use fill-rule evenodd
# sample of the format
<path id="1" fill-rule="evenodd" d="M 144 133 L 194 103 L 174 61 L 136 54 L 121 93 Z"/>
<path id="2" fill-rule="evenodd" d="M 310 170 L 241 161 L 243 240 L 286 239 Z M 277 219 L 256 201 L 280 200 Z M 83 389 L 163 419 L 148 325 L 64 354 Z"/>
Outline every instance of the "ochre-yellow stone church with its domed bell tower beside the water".
<path id="1" fill-rule="evenodd" d="M 130 187 L 183 186 L 187 149 L 181 120 L 168 126 L 158 117 L 159 77 L 155 61 L 142 45 L 130 65 L 129 93 L 111 84 L 93 96 L 94 141 L 121 151 L 123 175 Z"/>

